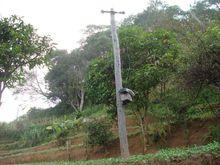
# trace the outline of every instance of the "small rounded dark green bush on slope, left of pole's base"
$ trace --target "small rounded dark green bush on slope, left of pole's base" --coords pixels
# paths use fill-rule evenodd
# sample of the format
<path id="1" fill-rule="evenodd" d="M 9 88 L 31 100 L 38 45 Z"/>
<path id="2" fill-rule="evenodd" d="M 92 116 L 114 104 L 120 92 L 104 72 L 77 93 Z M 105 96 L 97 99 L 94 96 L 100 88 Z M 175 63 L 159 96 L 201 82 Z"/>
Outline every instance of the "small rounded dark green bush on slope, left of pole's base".
<path id="1" fill-rule="evenodd" d="M 112 132 L 110 131 L 110 122 L 102 119 L 94 119 L 86 123 L 86 144 L 91 147 L 103 146 L 106 147 L 111 140 Z"/>

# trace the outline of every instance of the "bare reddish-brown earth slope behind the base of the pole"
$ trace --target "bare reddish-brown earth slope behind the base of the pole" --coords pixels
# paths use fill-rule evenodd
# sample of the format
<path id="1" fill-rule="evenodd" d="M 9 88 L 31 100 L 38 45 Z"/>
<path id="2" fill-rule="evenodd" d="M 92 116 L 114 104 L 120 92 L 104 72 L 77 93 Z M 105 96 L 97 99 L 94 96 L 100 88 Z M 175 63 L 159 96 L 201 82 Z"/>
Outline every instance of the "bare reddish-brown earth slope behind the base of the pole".
<path id="1" fill-rule="evenodd" d="M 161 148 L 185 148 L 186 146 L 194 145 L 200 146 L 204 144 L 204 138 L 208 132 L 209 126 L 216 125 L 218 123 L 219 119 L 194 121 L 189 123 L 189 137 L 187 140 L 184 135 L 184 130 L 181 128 L 181 126 L 175 126 L 175 128 L 172 130 L 172 133 L 166 138 L 167 140 L 165 143 L 150 145 L 147 147 L 147 151 L 144 154 L 157 153 Z M 135 125 L 135 120 L 132 118 L 127 118 L 127 126 L 131 155 L 143 154 L 143 140 L 140 134 L 140 128 Z M 117 130 L 112 131 L 117 132 Z M 30 148 L 1 150 L 0 164 L 76 161 L 120 157 L 118 139 L 111 140 L 105 150 L 103 150 L 103 147 L 85 148 L 85 135 L 83 134 L 68 137 L 67 140 L 69 141 L 68 150 L 66 144 L 64 146 L 57 146 L 56 141 Z M 0 147 L 2 148 L 2 145 L 6 144 L 10 145 L 12 142 L 2 141 Z M 219 149 L 220 148 L 217 148 L 217 151 L 219 151 Z M 208 157 L 210 156 L 208 155 Z M 193 159 L 197 160 L 195 157 Z"/>

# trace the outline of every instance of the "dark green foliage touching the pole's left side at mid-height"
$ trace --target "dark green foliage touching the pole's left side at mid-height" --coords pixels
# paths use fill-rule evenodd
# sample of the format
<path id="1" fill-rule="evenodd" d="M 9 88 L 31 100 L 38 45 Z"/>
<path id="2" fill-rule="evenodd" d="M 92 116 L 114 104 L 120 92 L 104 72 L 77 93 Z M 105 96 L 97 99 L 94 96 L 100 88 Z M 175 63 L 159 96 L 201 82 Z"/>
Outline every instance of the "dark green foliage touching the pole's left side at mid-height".
<path id="1" fill-rule="evenodd" d="M 109 54 L 92 60 L 86 77 L 88 101 L 92 104 L 115 105 L 114 87 L 113 56 Z"/>

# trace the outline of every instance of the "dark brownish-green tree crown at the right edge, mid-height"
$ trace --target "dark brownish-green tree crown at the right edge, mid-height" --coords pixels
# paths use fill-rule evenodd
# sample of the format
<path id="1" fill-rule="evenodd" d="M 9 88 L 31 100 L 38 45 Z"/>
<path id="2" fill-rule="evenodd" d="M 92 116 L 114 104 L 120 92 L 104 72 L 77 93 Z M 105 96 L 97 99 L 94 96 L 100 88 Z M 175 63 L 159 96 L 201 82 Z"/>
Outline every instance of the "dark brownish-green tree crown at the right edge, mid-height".
<path id="1" fill-rule="evenodd" d="M 187 87 L 212 85 L 220 89 L 220 28 L 211 25 L 194 45 L 184 72 Z"/>

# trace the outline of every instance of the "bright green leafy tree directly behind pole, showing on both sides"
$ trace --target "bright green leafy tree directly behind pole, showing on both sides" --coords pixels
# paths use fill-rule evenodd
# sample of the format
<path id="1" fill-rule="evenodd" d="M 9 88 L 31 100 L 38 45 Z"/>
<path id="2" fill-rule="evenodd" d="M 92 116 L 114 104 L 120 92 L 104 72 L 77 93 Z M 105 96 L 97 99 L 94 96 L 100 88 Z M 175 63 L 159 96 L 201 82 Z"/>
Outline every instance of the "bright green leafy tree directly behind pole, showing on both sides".
<path id="1" fill-rule="evenodd" d="M 166 30 L 146 32 L 137 26 L 119 29 L 124 87 L 135 92 L 131 104 L 138 117 L 146 146 L 145 118 L 152 90 L 165 84 L 176 71 L 179 44 L 175 34 Z M 87 74 L 87 96 L 94 104 L 114 105 L 113 57 L 109 52 L 93 60 Z M 113 111 L 114 113 L 115 111 Z"/>

